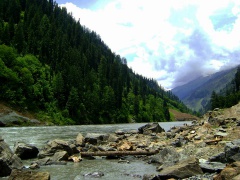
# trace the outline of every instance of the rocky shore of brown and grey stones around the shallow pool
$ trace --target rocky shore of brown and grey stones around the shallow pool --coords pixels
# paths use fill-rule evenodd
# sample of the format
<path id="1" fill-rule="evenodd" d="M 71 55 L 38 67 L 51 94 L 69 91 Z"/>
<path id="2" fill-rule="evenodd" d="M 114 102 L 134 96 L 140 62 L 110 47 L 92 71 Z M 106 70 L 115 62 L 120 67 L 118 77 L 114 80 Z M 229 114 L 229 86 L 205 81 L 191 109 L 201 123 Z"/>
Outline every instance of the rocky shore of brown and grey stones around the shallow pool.
<path id="1" fill-rule="evenodd" d="M 0 138 L 0 177 L 9 179 L 50 179 L 41 166 L 84 163 L 95 156 L 117 158 L 131 163 L 128 156 L 154 164 L 155 174 L 139 179 L 240 179 L 240 105 L 207 113 L 191 125 L 173 127 L 165 132 L 158 123 L 149 123 L 130 132 L 78 134 L 76 139 L 54 139 L 38 149 L 24 142 L 13 152 Z M 21 159 L 32 159 L 29 168 Z M 71 161 L 71 162 L 70 162 Z M 102 177 L 107 172 L 89 172 L 83 176 Z"/>

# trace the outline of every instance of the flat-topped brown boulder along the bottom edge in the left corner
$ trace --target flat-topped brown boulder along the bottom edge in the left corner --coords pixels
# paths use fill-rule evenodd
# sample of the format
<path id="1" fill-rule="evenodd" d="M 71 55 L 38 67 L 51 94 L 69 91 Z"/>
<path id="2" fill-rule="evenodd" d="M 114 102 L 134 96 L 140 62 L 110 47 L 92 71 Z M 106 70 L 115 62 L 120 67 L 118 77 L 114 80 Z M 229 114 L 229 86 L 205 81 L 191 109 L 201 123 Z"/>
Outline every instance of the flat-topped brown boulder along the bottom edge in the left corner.
<path id="1" fill-rule="evenodd" d="M 50 174 L 48 172 L 14 169 L 9 180 L 50 180 Z"/>

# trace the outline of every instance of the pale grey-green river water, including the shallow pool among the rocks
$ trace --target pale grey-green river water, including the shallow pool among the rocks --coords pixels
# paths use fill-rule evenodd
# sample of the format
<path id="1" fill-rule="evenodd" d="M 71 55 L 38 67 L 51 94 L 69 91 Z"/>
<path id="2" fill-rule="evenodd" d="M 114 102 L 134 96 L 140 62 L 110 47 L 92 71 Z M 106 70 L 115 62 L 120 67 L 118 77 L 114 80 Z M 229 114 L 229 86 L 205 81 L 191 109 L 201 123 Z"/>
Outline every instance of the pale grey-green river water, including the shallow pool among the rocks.
<path id="1" fill-rule="evenodd" d="M 173 126 L 191 122 L 160 122 L 160 126 L 168 131 Z M 41 149 L 48 140 L 75 140 L 78 133 L 113 133 L 116 130 L 137 130 L 146 123 L 107 124 L 107 125 L 79 125 L 79 126 L 41 126 L 41 127 L 7 127 L 0 128 L 0 136 L 13 148 L 15 142 L 25 142 Z M 24 161 L 29 166 L 31 161 Z M 132 175 L 157 174 L 156 166 L 138 159 L 130 159 L 130 163 L 118 163 L 118 160 L 106 160 L 97 157 L 95 160 L 83 159 L 80 163 L 69 162 L 67 165 L 53 165 L 41 167 L 40 171 L 48 171 L 51 180 L 81 180 L 91 179 L 84 174 L 100 171 L 104 173 L 101 179 L 142 179 Z M 93 178 L 96 179 L 96 178 Z"/>

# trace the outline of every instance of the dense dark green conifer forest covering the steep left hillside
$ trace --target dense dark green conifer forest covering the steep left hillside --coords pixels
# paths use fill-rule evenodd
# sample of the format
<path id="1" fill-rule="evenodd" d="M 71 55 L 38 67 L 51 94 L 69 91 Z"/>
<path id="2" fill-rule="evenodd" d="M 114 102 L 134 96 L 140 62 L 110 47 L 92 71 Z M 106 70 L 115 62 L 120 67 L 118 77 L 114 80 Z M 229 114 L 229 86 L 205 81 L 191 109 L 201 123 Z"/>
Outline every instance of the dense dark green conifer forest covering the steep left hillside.
<path id="1" fill-rule="evenodd" d="M 55 124 L 169 121 L 188 109 L 52 0 L 0 1 L 0 99 Z"/>

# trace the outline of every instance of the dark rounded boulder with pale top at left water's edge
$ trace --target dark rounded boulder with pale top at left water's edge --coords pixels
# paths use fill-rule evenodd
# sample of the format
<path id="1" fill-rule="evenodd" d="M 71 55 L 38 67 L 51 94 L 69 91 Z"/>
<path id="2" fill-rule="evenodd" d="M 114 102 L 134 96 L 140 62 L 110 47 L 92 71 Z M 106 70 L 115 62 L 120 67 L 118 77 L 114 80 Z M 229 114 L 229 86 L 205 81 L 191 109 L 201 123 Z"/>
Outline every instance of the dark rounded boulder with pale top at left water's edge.
<path id="1" fill-rule="evenodd" d="M 33 145 L 18 142 L 14 144 L 14 153 L 21 159 L 32 159 L 37 157 L 39 151 Z"/>

